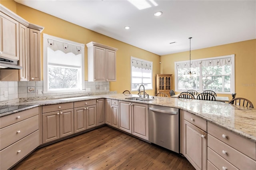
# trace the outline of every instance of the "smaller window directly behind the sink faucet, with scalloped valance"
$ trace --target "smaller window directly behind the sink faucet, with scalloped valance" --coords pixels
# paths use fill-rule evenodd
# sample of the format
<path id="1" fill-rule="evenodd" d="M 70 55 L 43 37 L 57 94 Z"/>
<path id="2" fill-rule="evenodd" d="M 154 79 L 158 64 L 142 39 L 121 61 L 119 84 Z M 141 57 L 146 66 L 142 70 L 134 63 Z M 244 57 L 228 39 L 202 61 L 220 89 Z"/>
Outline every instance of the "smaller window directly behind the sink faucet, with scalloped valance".
<path id="1" fill-rule="evenodd" d="M 131 57 L 131 91 L 137 91 L 141 84 L 152 89 L 152 62 Z"/>

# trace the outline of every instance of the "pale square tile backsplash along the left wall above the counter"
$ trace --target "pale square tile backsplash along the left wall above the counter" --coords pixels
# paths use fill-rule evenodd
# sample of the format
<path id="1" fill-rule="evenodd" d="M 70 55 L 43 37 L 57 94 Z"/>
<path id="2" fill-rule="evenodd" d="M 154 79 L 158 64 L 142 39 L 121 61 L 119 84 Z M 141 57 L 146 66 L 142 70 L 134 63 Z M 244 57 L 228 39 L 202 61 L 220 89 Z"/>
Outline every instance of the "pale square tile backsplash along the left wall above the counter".
<path id="1" fill-rule="evenodd" d="M 12 99 L 109 92 L 109 82 L 84 81 L 82 92 L 43 93 L 43 81 L 0 81 L 0 101 Z"/>

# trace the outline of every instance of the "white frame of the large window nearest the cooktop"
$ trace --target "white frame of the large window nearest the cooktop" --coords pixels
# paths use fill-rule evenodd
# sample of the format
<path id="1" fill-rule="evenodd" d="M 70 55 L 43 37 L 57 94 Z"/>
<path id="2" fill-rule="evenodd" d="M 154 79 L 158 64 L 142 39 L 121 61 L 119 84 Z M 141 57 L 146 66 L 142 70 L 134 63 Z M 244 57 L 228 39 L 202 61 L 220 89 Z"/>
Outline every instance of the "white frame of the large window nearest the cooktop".
<path id="1" fill-rule="evenodd" d="M 63 42 L 63 43 L 67 43 L 67 44 L 71 44 L 71 45 L 76 45 L 76 46 L 80 46 L 81 47 L 81 54 L 82 54 L 82 57 L 81 57 L 81 63 L 82 63 L 82 68 L 81 68 L 81 83 L 82 83 L 82 87 L 80 89 L 70 89 L 70 90 L 56 90 L 56 91 L 48 91 L 48 56 L 47 56 L 47 47 L 48 47 L 48 38 L 51 39 L 51 40 L 55 40 L 55 41 L 58 41 L 58 42 Z M 63 39 L 63 38 L 58 38 L 58 37 L 55 37 L 55 36 L 50 36 L 48 34 L 43 34 L 43 51 L 44 51 L 44 55 L 43 55 L 43 72 L 44 72 L 44 81 L 43 81 L 43 84 L 44 84 L 44 91 L 43 93 L 73 93 L 73 92 L 82 92 L 82 91 L 85 91 L 84 90 L 84 47 L 85 45 L 82 44 L 82 43 L 77 43 L 77 42 L 73 42 L 73 41 L 70 41 L 70 40 L 66 40 L 66 39 Z"/>

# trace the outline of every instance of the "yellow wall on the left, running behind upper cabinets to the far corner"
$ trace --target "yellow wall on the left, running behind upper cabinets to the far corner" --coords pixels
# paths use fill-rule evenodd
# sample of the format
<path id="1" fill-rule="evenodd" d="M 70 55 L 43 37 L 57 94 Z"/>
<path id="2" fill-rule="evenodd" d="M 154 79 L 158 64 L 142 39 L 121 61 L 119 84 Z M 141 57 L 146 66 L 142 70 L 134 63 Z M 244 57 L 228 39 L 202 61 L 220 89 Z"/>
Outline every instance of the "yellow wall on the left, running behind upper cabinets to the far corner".
<path id="1" fill-rule="evenodd" d="M 18 4 L 13 0 L 1 0 L 0 3 L 8 9 L 12 9 L 19 16 L 32 24 L 43 26 L 44 30 L 41 34 L 41 61 L 43 61 L 43 33 L 71 40 L 78 43 L 97 42 L 118 49 L 116 53 L 116 82 L 110 82 L 110 91 L 122 93 L 124 90 L 130 90 L 130 56 L 145 59 L 153 62 L 153 90 L 146 91 L 150 95 L 155 94 L 155 76 L 160 72 L 160 56 L 150 53 L 143 49 L 128 45 L 108 36 L 98 34 L 86 28 L 82 28 L 70 22 L 66 22 L 54 16 L 45 14 L 33 8 L 29 8 L 22 4 Z M 85 80 L 87 75 L 87 47 L 85 51 Z M 43 62 L 41 62 L 41 66 Z M 138 92 L 132 92 L 137 94 Z"/>

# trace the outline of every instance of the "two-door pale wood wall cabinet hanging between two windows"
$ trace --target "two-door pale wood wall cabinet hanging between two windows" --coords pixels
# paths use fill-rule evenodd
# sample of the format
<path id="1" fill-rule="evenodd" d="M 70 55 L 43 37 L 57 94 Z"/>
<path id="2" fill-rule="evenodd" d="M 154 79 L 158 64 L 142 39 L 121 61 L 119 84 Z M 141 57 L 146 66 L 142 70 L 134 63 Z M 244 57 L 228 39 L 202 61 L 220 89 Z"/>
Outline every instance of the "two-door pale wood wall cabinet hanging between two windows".
<path id="1" fill-rule="evenodd" d="M 88 81 L 116 81 L 116 51 L 100 43 L 90 42 L 88 48 Z"/>

